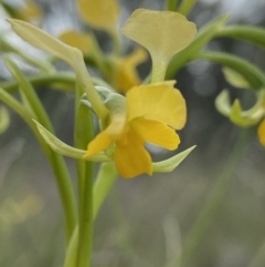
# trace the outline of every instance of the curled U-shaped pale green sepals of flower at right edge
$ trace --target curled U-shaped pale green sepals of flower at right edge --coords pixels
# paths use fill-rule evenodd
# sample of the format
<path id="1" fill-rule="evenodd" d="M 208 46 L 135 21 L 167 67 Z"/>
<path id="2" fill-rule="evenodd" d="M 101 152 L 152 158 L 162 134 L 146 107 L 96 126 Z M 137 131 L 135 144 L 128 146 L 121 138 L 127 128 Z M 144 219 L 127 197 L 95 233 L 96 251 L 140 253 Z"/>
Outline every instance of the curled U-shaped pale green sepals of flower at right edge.
<path id="1" fill-rule="evenodd" d="M 257 94 L 256 104 L 247 111 L 243 111 L 239 100 L 231 105 L 227 90 L 223 90 L 215 100 L 218 111 L 229 117 L 231 122 L 241 126 L 248 127 L 256 125 L 264 116 L 264 91 Z"/>

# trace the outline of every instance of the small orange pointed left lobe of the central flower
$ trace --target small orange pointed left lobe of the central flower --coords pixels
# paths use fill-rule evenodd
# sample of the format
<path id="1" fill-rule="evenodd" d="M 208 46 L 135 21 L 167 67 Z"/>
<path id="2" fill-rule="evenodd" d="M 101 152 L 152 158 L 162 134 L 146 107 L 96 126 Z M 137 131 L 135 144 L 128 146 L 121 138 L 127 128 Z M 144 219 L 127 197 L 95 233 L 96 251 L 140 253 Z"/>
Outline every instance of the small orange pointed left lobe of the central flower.
<path id="1" fill-rule="evenodd" d="M 106 131 L 100 132 L 88 145 L 84 157 L 96 155 L 97 153 L 105 151 L 113 143 L 112 137 Z"/>

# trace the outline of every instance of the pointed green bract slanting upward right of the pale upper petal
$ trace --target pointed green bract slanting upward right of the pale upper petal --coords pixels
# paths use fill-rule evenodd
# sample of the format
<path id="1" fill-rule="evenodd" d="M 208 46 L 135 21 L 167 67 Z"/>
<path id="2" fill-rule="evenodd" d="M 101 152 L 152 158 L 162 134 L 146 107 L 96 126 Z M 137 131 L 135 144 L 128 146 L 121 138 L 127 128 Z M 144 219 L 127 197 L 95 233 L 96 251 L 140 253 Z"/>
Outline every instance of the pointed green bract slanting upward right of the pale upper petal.
<path id="1" fill-rule="evenodd" d="M 194 41 L 184 50 L 180 51 L 170 61 L 167 70 L 166 80 L 171 79 L 184 64 L 193 60 L 193 58 L 208 44 L 208 42 L 221 31 L 229 16 L 222 16 L 204 25 L 198 33 Z"/>

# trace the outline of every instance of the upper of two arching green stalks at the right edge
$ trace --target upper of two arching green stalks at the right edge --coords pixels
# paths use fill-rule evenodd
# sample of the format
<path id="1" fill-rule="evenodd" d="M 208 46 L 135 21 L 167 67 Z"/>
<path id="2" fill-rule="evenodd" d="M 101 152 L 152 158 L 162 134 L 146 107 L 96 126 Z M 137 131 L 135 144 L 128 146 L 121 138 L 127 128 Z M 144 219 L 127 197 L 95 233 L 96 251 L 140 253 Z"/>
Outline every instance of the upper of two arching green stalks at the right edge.
<path id="1" fill-rule="evenodd" d="M 225 27 L 216 33 L 216 37 L 231 37 L 254 43 L 265 48 L 265 29 L 250 25 Z"/>

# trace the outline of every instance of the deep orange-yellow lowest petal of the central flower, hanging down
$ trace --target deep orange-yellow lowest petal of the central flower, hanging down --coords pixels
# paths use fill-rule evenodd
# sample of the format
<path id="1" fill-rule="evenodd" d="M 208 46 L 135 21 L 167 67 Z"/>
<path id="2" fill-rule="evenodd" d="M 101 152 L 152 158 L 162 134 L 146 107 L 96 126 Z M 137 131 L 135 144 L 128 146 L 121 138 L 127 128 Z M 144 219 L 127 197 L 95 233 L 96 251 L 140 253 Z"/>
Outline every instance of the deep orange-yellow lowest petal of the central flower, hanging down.
<path id="1" fill-rule="evenodd" d="M 116 143 L 114 158 L 117 171 L 124 178 L 132 178 L 142 173 L 152 174 L 151 157 L 134 130 L 125 140 Z"/>

